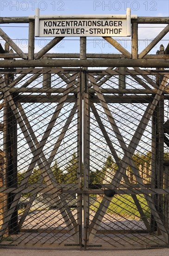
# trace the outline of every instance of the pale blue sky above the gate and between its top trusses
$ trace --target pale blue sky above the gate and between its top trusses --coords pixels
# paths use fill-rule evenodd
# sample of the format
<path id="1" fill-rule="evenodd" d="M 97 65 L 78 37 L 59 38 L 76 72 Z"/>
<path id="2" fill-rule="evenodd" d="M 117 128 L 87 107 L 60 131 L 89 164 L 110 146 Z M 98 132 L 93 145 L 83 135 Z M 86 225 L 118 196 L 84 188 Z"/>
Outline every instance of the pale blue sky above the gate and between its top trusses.
<path id="1" fill-rule="evenodd" d="M 40 15 L 64 15 L 64 14 L 125 14 L 126 8 L 131 8 L 131 15 L 138 16 L 169 16 L 168 0 L 1 0 L 0 16 L 29 16 L 35 14 L 35 9 L 39 8 Z M 141 52 L 153 40 L 165 24 L 140 24 L 139 52 Z M 28 24 L 1 24 L 0 26 L 6 34 L 26 53 L 28 47 Z M 35 52 L 43 48 L 52 38 L 36 38 Z M 131 51 L 131 37 L 115 38 L 123 47 Z M 161 40 L 164 47 L 167 46 L 169 33 Z M 4 40 L 0 41 L 2 46 Z M 160 43 L 151 51 L 156 54 Z M 58 53 L 78 53 L 79 38 L 66 37 L 58 43 L 50 52 Z M 117 50 L 100 37 L 87 38 L 88 53 L 117 53 Z"/>

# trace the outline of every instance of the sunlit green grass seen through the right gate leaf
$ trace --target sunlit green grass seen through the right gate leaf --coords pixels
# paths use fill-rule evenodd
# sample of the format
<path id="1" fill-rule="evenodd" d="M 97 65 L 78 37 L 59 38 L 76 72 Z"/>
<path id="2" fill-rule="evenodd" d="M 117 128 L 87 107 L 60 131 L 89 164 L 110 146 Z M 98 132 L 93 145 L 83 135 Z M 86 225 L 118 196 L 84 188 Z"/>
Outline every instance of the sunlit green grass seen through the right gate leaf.
<path id="1" fill-rule="evenodd" d="M 137 198 L 145 216 L 150 217 L 150 209 L 144 195 L 137 195 Z M 100 203 L 101 201 L 95 202 L 90 209 L 96 211 Z M 119 216 L 131 217 L 132 219 L 140 218 L 137 206 L 131 195 L 115 195 L 106 212 L 110 214 L 117 214 Z"/>

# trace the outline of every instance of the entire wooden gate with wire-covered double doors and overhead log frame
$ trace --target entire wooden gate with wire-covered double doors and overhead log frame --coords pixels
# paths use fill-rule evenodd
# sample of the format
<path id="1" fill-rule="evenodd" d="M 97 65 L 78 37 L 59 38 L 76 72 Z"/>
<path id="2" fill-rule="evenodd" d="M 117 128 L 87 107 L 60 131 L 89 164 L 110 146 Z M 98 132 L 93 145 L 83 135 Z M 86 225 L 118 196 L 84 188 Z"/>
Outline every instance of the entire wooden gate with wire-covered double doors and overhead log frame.
<path id="1" fill-rule="evenodd" d="M 81 37 L 73 60 L 48 53 L 62 38 L 35 54 L 33 20 L 0 21 L 29 23 L 28 53 L 0 29 L 0 246 L 169 246 L 169 47 L 148 54 L 169 25 L 138 54 L 138 24 L 167 18 L 131 20 L 131 53 Z"/>

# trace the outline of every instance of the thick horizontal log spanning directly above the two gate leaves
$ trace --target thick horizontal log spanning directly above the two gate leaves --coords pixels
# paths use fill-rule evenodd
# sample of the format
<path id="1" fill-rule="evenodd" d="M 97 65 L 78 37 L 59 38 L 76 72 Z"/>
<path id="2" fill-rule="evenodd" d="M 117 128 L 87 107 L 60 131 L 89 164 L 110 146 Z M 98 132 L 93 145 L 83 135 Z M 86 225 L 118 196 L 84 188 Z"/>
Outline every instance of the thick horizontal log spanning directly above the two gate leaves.
<path id="1" fill-rule="evenodd" d="M 102 59 L 96 60 L 5 60 L 0 61 L 0 67 L 164 67 L 168 68 L 166 60 L 154 59 Z"/>

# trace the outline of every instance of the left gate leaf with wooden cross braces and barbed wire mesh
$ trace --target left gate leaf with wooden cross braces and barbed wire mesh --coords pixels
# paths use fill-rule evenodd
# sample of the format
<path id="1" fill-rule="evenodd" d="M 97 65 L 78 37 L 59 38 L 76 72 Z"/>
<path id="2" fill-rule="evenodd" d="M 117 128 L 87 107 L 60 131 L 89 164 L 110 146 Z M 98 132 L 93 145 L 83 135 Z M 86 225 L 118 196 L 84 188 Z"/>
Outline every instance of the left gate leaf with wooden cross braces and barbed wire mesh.
<path id="1" fill-rule="evenodd" d="M 7 84 L 4 77 L 1 243 L 79 243 L 81 213 L 69 194 L 81 184 L 79 76 L 26 75 L 12 94 Z"/>

